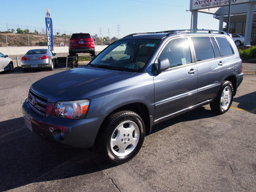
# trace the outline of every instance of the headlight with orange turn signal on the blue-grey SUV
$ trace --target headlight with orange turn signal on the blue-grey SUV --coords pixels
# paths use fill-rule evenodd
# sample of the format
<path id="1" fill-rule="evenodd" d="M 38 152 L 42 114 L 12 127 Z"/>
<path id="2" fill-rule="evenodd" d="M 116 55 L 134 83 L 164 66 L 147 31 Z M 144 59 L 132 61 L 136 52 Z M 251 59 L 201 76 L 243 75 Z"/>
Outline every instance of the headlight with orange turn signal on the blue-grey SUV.
<path id="1" fill-rule="evenodd" d="M 54 104 L 52 116 L 62 118 L 84 118 L 90 106 L 90 100 L 60 101 Z"/>

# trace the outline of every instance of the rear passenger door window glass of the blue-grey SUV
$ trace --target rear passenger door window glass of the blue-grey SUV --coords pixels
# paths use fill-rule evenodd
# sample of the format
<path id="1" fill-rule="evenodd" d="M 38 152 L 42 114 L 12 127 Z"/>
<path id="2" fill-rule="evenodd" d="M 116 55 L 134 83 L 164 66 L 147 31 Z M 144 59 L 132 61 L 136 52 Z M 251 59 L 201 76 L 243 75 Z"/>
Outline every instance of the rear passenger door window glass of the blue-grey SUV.
<path id="1" fill-rule="evenodd" d="M 214 58 L 211 40 L 208 36 L 191 37 L 196 52 L 196 60 L 203 61 Z"/>

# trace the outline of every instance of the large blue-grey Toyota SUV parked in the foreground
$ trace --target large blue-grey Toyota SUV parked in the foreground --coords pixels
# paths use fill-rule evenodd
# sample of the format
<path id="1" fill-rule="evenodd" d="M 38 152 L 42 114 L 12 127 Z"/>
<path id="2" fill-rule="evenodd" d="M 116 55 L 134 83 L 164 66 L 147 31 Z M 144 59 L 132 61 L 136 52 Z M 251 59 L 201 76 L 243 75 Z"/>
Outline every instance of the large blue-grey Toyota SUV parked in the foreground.
<path id="1" fill-rule="evenodd" d="M 242 81 L 239 52 L 223 31 L 138 33 L 88 66 L 32 84 L 22 111 L 42 138 L 96 145 L 121 164 L 136 156 L 152 125 L 205 104 L 226 113 Z"/>

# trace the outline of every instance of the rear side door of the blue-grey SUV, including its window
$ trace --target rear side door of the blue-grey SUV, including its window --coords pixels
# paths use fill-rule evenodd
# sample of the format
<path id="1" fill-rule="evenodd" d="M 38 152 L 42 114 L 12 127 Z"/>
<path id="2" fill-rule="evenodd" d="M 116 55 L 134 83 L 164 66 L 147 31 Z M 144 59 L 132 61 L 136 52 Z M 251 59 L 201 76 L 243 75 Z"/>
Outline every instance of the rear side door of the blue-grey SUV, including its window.
<path id="1" fill-rule="evenodd" d="M 192 36 L 198 68 L 198 99 L 196 103 L 214 99 L 227 72 L 225 59 L 213 36 Z"/>

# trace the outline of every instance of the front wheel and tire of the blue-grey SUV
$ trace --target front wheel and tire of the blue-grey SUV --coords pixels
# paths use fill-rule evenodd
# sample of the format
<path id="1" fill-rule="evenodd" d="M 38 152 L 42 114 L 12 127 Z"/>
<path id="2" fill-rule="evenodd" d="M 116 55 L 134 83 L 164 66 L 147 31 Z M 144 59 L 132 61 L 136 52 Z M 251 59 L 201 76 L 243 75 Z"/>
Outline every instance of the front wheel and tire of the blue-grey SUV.
<path id="1" fill-rule="evenodd" d="M 122 164 L 131 160 L 145 138 L 145 125 L 133 111 L 120 111 L 109 116 L 100 129 L 97 147 L 109 163 Z"/>

